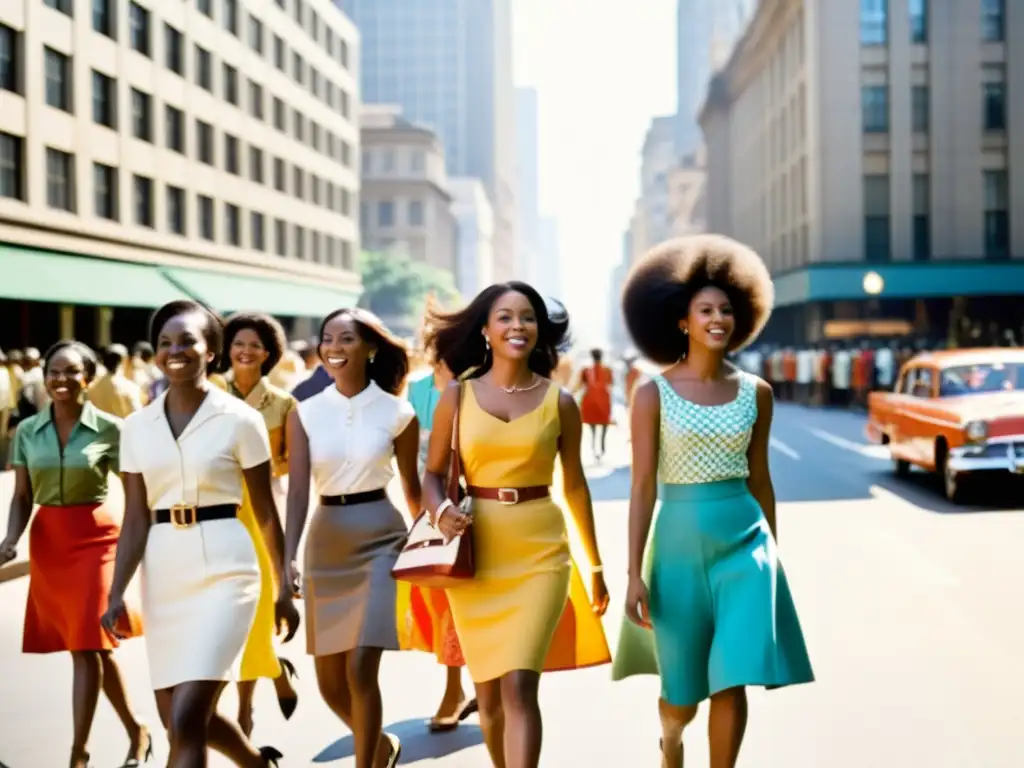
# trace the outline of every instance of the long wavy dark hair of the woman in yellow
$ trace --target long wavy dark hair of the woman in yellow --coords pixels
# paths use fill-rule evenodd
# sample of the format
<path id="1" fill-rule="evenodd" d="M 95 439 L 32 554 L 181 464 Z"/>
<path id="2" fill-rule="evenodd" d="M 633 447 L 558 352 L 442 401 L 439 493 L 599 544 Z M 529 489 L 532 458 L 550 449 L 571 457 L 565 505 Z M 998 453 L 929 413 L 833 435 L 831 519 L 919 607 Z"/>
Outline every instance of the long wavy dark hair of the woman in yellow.
<path id="1" fill-rule="evenodd" d="M 490 369 L 490 355 L 480 332 L 487 325 L 495 302 L 509 292 L 525 296 L 537 314 L 537 346 L 529 355 L 529 370 L 551 378 L 558 366 L 559 354 L 571 343 L 569 315 L 564 309 L 557 316 L 550 315 L 541 294 L 532 286 L 519 281 L 497 283 L 484 288 L 467 306 L 454 312 L 429 311 L 424 345 L 432 348 L 437 359 L 444 360 L 456 377 L 474 368 L 476 370 L 472 375 L 482 376 Z"/>

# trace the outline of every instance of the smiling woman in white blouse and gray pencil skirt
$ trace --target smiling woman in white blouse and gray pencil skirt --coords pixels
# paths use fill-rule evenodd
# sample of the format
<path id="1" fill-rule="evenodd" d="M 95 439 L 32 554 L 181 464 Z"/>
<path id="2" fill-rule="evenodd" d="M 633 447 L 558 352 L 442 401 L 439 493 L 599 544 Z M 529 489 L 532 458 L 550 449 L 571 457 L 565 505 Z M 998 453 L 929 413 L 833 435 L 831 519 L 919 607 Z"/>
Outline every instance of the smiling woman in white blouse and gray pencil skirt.
<path id="1" fill-rule="evenodd" d="M 400 341 L 370 312 L 339 309 L 319 332 L 321 360 L 334 385 L 288 417 L 289 476 L 285 562 L 306 602 L 306 641 L 328 707 L 347 725 L 356 768 L 393 768 L 401 744 L 382 733 L 377 681 L 381 654 L 398 650 L 398 590 L 391 567 L 409 525 L 388 500 L 398 472 L 410 512 L 420 510 L 419 425 L 397 397 L 409 372 Z M 304 578 L 296 565 L 309 508 Z"/>

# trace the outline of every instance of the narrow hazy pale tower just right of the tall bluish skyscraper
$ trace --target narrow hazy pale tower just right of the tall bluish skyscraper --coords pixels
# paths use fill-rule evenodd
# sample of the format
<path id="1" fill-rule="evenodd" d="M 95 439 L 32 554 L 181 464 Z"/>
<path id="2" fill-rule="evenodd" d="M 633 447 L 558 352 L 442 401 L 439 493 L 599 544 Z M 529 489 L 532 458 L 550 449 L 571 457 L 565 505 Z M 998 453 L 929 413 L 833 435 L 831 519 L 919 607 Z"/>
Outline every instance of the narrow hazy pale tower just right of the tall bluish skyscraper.
<path id="1" fill-rule="evenodd" d="M 536 282 L 542 266 L 540 127 L 537 90 L 516 88 L 516 268 L 515 276 Z"/>

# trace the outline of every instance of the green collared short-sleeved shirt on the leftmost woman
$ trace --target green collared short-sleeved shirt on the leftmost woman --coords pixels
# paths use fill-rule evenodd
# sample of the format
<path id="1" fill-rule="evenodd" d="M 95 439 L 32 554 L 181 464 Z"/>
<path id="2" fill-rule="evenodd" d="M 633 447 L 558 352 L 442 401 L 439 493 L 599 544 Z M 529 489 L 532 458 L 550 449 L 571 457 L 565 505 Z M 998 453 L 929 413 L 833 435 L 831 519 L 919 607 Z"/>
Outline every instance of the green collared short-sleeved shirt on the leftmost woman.
<path id="1" fill-rule="evenodd" d="M 108 476 L 119 471 L 120 444 L 121 420 L 86 402 L 61 455 L 46 408 L 17 426 L 10 463 L 29 470 L 35 504 L 94 504 L 106 499 Z"/>

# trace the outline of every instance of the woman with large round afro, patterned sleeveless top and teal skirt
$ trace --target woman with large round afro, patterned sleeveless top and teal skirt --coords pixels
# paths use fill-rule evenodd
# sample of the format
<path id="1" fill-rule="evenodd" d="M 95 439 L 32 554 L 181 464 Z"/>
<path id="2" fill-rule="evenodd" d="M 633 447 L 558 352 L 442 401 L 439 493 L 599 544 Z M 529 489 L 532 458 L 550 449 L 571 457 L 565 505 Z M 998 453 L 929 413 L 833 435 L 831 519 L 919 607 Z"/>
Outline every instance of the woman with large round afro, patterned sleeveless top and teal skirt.
<path id="1" fill-rule="evenodd" d="M 654 248 L 623 293 L 637 347 L 669 368 L 633 400 L 630 580 L 613 676 L 660 676 L 665 768 L 683 765 L 683 729 L 706 698 L 712 768 L 731 768 L 745 688 L 814 679 L 778 561 L 772 390 L 726 361 L 764 328 L 772 300 L 760 257 L 718 236 Z"/>

